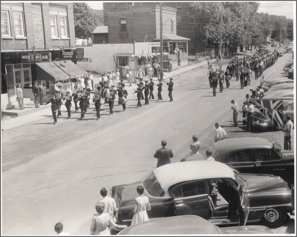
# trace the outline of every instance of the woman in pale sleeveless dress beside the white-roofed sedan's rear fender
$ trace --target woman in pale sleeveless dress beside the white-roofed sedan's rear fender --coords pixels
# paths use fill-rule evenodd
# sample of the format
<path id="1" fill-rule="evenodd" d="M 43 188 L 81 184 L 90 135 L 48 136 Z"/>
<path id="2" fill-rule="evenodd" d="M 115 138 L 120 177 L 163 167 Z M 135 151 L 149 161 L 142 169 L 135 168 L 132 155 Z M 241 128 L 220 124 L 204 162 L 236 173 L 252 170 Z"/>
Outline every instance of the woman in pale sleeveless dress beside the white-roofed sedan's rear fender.
<path id="1" fill-rule="evenodd" d="M 143 195 L 144 187 L 141 185 L 138 185 L 136 190 L 139 197 L 136 197 L 134 199 L 134 209 L 133 209 L 134 216 L 132 218 L 131 225 L 148 221 L 149 217 L 148 217 L 148 214 L 146 213 L 146 210 L 151 210 L 149 198 Z"/>

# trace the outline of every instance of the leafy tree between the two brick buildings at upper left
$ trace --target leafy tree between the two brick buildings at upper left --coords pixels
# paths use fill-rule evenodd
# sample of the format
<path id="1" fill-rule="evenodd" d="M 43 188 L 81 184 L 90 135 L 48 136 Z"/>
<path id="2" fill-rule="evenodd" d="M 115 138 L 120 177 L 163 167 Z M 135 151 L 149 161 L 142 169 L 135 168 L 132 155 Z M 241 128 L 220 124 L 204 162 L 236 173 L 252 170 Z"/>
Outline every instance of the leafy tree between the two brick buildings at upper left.
<path id="1" fill-rule="evenodd" d="M 85 2 L 73 3 L 75 37 L 86 39 L 92 36 L 97 26 L 96 20 Z"/>

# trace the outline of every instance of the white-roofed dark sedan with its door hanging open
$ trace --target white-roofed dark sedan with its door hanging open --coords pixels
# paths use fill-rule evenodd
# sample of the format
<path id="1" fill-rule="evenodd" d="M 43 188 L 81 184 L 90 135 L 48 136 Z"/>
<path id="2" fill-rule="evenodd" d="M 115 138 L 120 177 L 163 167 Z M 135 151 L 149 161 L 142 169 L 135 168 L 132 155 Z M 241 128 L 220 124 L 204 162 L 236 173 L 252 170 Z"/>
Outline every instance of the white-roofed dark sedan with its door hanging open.
<path id="1" fill-rule="evenodd" d="M 217 201 L 210 197 L 214 183 Z M 143 181 L 111 187 L 119 209 L 117 223 L 131 225 L 138 185 L 149 197 L 150 220 L 197 215 L 215 225 L 262 220 L 263 225 L 275 227 L 293 212 L 291 190 L 281 177 L 235 173 L 221 162 L 203 160 L 166 164 Z"/>

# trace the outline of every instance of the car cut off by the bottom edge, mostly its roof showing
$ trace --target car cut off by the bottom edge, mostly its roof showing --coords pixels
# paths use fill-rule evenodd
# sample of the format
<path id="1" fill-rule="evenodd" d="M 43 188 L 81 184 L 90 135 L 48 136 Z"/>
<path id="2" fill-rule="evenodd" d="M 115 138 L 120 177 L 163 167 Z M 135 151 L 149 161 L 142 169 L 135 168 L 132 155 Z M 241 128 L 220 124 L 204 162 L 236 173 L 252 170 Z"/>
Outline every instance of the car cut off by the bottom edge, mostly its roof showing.
<path id="1" fill-rule="evenodd" d="M 129 226 L 118 235 L 252 235 L 273 234 L 265 226 L 235 226 L 219 228 L 200 216 L 184 215 L 141 222 Z"/>

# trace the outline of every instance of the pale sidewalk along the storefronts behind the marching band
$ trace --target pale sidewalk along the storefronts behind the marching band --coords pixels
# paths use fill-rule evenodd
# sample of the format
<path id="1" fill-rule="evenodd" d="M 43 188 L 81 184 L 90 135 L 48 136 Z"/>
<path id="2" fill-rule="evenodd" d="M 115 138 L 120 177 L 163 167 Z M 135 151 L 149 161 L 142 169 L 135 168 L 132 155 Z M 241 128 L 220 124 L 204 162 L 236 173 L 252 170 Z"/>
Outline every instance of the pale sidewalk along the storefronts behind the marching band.
<path id="1" fill-rule="evenodd" d="M 207 68 L 206 60 L 201 63 L 192 63 L 191 61 L 189 61 L 189 64 L 190 65 L 188 65 L 186 67 L 178 68 L 170 73 L 164 73 L 163 81 L 166 81 L 167 79 L 168 79 L 167 81 L 169 81 L 170 77 L 174 78 L 178 74 L 185 73 L 187 71 L 190 71 L 192 69 L 195 69 L 195 68 L 198 68 L 201 66 L 206 66 L 206 68 Z M 149 79 L 149 78 L 144 77 L 144 80 L 146 80 L 146 79 Z M 95 80 L 96 80 L 96 78 L 94 78 L 94 84 L 95 84 Z M 157 77 L 153 77 L 153 81 L 156 84 L 158 81 Z M 125 89 L 127 89 L 127 91 L 128 91 L 128 97 L 132 96 L 132 94 L 136 90 L 137 86 L 135 84 L 133 84 L 132 86 L 129 86 L 129 85 L 127 86 L 126 80 L 124 80 L 124 83 L 126 85 Z M 93 95 L 94 94 L 92 93 L 91 98 L 90 98 L 91 104 L 92 104 Z M 9 130 L 9 129 L 19 127 L 22 125 L 26 125 L 27 123 L 32 123 L 32 122 L 37 121 L 42 118 L 46 118 L 46 117 L 51 118 L 52 117 L 51 103 L 49 103 L 47 105 L 40 106 L 40 108 L 35 108 L 34 102 L 30 101 L 29 103 L 24 105 L 25 110 L 19 110 L 18 106 L 16 106 L 16 107 L 17 108 L 15 108 L 15 109 L 5 110 L 6 113 L 7 113 L 7 111 L 8 112 L 11 111 L 11 112 L 18 112 L 19 114 L 18 114 L 18 117 L 15 117 L 15 118 L 6 117 L 6 116 L 3 117 L 1 120 L 1 130 L 2 131 Z M 73 111 L 73 108 L 74 108 L 74 104 L 72 103 L 72 107 L 71 107 L 72 111 Z M 64 104 L 62 106 L 62 110 L 66 110 Z M 52 120 L 51 120 L 51 122 L 52 122 Z"/>

